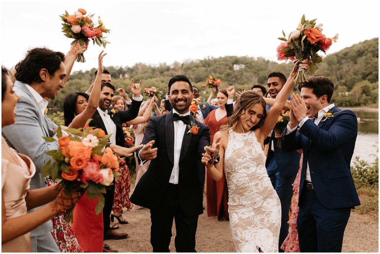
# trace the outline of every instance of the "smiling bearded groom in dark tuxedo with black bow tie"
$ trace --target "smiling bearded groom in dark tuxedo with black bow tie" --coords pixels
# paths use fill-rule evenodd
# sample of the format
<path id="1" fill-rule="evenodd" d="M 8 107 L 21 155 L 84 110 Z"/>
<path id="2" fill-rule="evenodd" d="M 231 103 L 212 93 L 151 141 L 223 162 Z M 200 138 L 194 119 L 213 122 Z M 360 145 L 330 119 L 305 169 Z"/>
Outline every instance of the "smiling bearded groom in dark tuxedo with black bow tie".
<path id="1" fill-rule="evenodd" d="M 169 252 L 173 218 L 176 221 L 177 252 L 196 252 L 198 216 L 203 213 L 202 187 L 197 170 L 204 147 L 210 144 L 209 128 L 196 121 L 189 107 L 194 99 L 192 85 L 184 75 L 169 80 L 173 110 L 151 117 L 139 148 L 139 163 L 150 161 L 130 198 L 150 209 L 150 243 L 154 252 Z M 188 128 L 193 125 L 193 130 Z"/>

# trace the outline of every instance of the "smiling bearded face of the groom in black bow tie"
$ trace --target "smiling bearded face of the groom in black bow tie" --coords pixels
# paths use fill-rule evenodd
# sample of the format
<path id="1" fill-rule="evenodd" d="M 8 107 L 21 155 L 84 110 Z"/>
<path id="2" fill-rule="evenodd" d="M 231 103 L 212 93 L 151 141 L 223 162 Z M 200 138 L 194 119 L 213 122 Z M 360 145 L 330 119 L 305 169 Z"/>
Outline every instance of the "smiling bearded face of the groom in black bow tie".
<path id="1" fill-rule="evenodd" d="M 190 85 L 185 81 L 176 81 L 170 87 L 169 100 L 171 106 L 179 113 L 188 112 L 194 94 L 190 90 Z"/>

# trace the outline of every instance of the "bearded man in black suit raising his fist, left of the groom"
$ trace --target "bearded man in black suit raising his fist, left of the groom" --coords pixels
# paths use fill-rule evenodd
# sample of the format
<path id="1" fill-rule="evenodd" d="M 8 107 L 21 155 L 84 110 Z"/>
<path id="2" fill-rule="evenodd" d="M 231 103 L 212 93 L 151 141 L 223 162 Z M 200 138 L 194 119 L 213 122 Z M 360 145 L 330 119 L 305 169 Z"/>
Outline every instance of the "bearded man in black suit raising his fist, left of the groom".
<path id="1" fill-rule="evenodd" d="M 117 110 L 114 107 L 110 107 L 111 100 L 115 92 L 114 85 L 109 82 L 101 84 L 99 106 L 93 114 L 93 120 L 90 122 L 89 126 L 95 126 L 105 131 L 106 134 L 112 134 L 109 138 L 110 142 L 107 146 L 110 146 L 111 148 L 115 148 L 115 145 L 125 147 L 122 123 L 130 121 L 138 115 L 143 99 L 140 94 L 140 85 L 141 81 L 139 84 L 133 84 L 132 79 L 131 86 L 129 87 L 133 93 L 131 106 L 128 110 Z M 115 152 L 117 153 L 117 151 Z M 127 233 L 117 233 L 115 230 L 110 230 L 109 216 L 111 215 L 112 204 L 114 202 L 115 185 L 111 185 L 109 187 L 110 188 L 106 189 L 106 194 L 103 194 L 105 196 L 105 205 L 103 208 L 103 238 L 105 240 L 127 238 Z"/>

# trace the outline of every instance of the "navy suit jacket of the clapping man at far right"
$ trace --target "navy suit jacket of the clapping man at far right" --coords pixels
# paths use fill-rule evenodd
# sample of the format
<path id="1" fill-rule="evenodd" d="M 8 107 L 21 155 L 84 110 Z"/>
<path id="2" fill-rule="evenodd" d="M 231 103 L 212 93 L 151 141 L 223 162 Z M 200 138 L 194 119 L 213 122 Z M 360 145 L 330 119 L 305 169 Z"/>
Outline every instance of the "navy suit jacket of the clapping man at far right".
<path id="1" fill-rule="evenodd" d="M 331 111 L 336 112 L 334 117 L 323 117 L 318 125 L 309 119 L 299 131 L 294 130 L 285 135 L 285 129 L 281 148 L 285 151 L 303 150 L 300 194 L 309 162 L 314 191 L 322 205 L 327 208 L 355 207 L 360 202 L 350 162 L 358 133 L 358 121 L 351 110 L 340 110 L 335 106 Z"/>

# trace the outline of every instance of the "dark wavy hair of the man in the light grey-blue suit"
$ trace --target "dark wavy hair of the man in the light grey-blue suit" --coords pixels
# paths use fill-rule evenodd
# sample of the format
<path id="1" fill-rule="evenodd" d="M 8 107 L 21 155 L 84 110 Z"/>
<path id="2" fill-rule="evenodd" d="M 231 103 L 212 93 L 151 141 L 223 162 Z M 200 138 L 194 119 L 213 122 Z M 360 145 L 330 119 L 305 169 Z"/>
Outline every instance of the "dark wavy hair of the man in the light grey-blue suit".
<path id="1" fill-rule="evenodd" d="M 14 77 L 26 84 L 41 83 L 40 69 L 47 69 L 47 72 L 54 76 L 63 61 L 65 61 L 65 54 L 62 52 L 53 51 L 46 47 L 36 47 L 29 50 L 24 60 L 17 63 Z"/>

